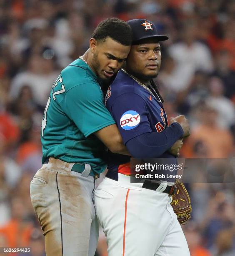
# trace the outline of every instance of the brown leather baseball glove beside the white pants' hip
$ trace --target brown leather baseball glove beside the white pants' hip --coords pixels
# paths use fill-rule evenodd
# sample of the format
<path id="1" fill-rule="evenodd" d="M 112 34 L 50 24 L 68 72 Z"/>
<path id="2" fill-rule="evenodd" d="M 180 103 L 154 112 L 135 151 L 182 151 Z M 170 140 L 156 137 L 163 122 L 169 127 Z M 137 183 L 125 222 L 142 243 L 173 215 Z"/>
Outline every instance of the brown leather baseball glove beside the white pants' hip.
<path id="1" fill-rule="evenodd" d="M 192 212 L 190 197 L 182 182 L 176 182 L 176 192 L 172 196 L 172 202 L 175 214 L 177 215 L 180 224 L 186 224 L 191 218 L 190 212 Z"/>

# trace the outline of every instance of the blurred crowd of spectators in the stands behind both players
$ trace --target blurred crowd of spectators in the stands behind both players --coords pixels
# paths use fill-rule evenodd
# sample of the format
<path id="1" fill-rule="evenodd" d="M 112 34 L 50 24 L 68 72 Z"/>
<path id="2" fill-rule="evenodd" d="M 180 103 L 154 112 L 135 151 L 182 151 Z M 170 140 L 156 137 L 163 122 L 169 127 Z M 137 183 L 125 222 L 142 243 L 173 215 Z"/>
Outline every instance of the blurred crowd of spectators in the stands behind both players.
<path id="1" fill-rule="evenodd" d="M 190 120 L 180 157 L 234 157 L 235 1 L 0 0 L 0 247 L 45 255 L 29 195 L 41 166 L 42 115 L 60 70 L 108 17 L 146 18 L 170 37 L 156 83 L 168 118 Z M 235 255 L 231 182 L 187 184 L 193 213 L 183 230 L 192 256 Z M 97 256 L 107 256 L 102 230 Z"/>

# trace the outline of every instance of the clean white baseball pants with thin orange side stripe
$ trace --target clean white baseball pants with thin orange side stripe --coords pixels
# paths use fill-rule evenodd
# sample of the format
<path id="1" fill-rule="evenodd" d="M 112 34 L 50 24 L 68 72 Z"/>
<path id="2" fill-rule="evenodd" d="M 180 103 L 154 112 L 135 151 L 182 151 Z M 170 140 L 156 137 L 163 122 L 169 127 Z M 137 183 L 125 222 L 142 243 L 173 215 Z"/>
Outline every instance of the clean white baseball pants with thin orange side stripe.
<path id="1" fill-rule="evenodd" d="M 168 194 L 105 178 L 95 190 L 95 207 L 109 256 L 190 256 Z"/>

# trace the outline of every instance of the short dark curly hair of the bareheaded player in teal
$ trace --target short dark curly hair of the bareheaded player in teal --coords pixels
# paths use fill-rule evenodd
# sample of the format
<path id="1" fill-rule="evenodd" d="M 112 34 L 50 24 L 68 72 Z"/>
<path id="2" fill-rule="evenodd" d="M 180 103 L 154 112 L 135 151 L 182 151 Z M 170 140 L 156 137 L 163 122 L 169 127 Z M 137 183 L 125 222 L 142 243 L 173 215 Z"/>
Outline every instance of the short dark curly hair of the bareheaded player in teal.
<path id="1" fill-rule="evenodd" d="M 105 41 L 107 37 L 110 37 L 125 46 L 132 43 L 132 32 L 129 24 L 118 18 L 102 20 L 95 28 L 92 37 L 97 41 Z"/>

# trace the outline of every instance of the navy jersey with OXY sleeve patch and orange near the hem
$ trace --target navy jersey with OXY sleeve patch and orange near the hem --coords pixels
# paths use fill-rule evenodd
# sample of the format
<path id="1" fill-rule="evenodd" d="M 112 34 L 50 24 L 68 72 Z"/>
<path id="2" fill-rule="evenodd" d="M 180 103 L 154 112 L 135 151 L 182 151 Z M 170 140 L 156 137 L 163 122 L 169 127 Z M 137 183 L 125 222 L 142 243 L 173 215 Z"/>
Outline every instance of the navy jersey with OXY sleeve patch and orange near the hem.
<path id="1" fill-rule="evenodd" d="M 135 81 L 122 69 L 107 90 L 106 108 L 117 123 L 124 144 L 143 133 L 160 133 L 168 127 L 160 97 Z M 175 158 L 167 151 L 159 158 Z M 109 170 L 130 175 L 130 156 L 109 154 Z"/>

